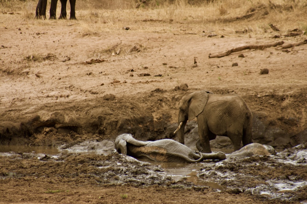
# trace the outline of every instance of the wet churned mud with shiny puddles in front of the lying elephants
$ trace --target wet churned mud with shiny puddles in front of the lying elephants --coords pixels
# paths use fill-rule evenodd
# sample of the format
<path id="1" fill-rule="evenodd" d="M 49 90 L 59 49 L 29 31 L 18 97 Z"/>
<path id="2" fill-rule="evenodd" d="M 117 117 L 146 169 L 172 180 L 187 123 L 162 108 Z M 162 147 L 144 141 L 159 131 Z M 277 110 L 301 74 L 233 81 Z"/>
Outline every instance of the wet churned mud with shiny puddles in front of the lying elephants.
<path id="1" fill-rule="evenodd" d="M 267 202 L 304 203 L 307 144 L 272 156 L 229 157 L 195 164 L 139 161 L 118 154 L 110 141 L 62 145 L 59 154 L 2 152 L 2 185 L 21 183 L 211 189 Z M 47 150 L 48 151 L 48 150 Z"/>

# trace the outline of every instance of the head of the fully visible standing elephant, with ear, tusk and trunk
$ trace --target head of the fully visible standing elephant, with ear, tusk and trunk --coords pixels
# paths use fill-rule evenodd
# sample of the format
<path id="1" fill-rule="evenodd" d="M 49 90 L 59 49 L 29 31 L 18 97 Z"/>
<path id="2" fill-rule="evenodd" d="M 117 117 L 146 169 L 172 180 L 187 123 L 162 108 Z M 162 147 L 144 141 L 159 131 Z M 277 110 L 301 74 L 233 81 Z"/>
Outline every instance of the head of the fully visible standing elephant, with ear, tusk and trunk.
<path id="1" fill-rule="evenodd" d="M 196 91 L 192 94 L 182 97 L 179 102 L 179 114 L 178 114 L 178 128 L 174 134 L 178 132 L 179 142 L 184 144 L 185 124 L 187 121 L 193 120 L 203 110 L 208 101 L 208 94 L 212 94 L 210 91 Z"/>

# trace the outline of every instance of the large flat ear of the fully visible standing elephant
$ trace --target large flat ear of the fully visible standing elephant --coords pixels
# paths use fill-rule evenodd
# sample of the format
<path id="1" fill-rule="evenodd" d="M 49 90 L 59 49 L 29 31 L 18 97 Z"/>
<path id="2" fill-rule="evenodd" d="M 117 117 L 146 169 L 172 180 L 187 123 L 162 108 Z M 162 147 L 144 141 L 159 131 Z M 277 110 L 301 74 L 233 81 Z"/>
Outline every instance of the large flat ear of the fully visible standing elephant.
<path id="1" fill-rule="evenodd" d="M 189 102 L 188 120 L 193 120 L 203 110 L 208 101 L 208 93 L 206 91 L 196 91 L 191 94 Z"/>

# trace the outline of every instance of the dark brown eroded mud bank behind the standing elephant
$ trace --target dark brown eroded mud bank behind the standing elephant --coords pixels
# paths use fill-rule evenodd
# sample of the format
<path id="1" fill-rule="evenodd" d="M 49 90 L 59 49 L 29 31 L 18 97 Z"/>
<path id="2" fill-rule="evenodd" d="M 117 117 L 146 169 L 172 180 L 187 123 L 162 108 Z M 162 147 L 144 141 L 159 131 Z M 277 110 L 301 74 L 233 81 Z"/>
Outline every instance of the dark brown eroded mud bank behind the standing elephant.
<path id="1" fill-rule="evenodd" d="M 305 118 L 307 90 L 301 93 L 243 95 L 253 112 L 253 140 L 277 149 L 307 141 Z M 26 104 L 0 110 L 0 143 L 57 146 L 94 139 L 115 140 L 121 133 L 136 139 L 177 139 L 174 118 L 181 97 L 191 91 L 155 89 L 149 94 L 105 100 L 105 97 L 79 102 Z M 233 91 L 215 90 L 220 94 Z M 113 95 L 114 96 L 114 95 Z M 274 105 L 272 105 L 274 104 Z M 163 107 L 163 108 L 161 108 Z M 275 110 L 268 109 L 274 107 Z M 276 113 L 276 114 L 274 114 Z M 196 121 L 188 122 L 186 139 L 197 138 Z M 193 141 L 194 142 L 194 141 Z M 227 144 L 229 145 L 229 144 Z M 223 146 L 223 145 L 222 145 Z"/>

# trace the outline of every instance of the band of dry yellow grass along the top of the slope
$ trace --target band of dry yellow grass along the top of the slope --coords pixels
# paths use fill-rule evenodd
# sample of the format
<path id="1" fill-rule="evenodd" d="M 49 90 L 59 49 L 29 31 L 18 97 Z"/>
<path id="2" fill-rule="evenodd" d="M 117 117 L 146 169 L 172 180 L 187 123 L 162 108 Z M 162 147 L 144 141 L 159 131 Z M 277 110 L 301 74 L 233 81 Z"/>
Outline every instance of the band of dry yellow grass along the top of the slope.
<path id="1" fill-rule="evenodd" d="M 269 24 L 281 32 L 298 28 L 307 31 L 307 2 L 293 0 L 85 0 L 77 2 L 76 29 L 81 35 L 122 31 L 178 32 L 178 28 L 189 28 L 193 32 L 211 30 L 216 34 L 247 30 L 249 33 L 271 32 Z M 0 0 L 2 11 L 22 13 L 22 18 L 32 19 L 37 1 Z M 47 18 L 50 4 L 47 5 Z M 69 13 L 69 3 L 67 4 Z M 58 3 L 58 12 L 60 3 Z M 50 24 L 48 20 L 36 21 Z M 179 29 L 179 30 L 180 30 Z M 125 31 L 122 31 L 125 32 Z"/>

